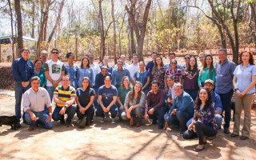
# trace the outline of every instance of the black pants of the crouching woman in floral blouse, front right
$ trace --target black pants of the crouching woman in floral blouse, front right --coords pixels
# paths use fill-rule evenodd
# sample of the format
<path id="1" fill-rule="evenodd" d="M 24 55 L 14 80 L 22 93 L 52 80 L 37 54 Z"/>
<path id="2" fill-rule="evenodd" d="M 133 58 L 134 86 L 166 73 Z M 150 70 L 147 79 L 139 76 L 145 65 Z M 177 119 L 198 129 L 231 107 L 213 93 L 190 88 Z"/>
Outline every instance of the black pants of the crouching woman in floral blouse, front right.
<path id="1" fill-rule="evenodd" d="M 211 126 L 206 126 L 202 122 L 196 122 L 194 124 L 195 130 L 198 134 L 199 138 L 199 145 L 202 145 L 203 143 L 203 136 L 205 135 L 206 137 L 213 137 L 214 135 L 217 134 L 217 132 L 214 130 L 213 127 Z"/>

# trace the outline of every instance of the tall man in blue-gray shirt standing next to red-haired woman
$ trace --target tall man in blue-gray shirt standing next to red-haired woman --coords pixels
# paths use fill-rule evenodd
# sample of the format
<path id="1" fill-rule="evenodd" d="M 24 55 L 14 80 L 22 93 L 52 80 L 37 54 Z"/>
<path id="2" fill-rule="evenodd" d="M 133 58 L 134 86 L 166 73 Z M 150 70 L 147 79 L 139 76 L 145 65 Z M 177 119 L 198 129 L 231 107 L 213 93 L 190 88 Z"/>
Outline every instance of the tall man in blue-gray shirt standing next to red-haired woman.
<path id="1" fill-rule="evenodd" d="M 215 92 L 221 97 L 222 108 L 225 110 L 224 133 L 230 133 L 231 118 L 231 98 L 233 95 L 233 72 L 235 69 L 234 62 L 227 58 L 226 49 L 218 50 L 219 62 L 216 63 L 216 84 Z"/>

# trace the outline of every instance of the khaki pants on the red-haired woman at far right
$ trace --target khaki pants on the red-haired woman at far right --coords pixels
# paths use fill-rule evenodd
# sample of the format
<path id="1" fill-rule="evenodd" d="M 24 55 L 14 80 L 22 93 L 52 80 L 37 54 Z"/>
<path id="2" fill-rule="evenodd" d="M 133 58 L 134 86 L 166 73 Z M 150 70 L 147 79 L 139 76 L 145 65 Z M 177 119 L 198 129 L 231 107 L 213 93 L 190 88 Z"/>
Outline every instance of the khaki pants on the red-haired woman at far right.
<path id="1" fill-rule="evenodd" d="M 250 137 L 250 110 L 253 102 L 254 94 L 245 94 L 242 98 L 235 94 L 235 114 L 234 114 L 234 129 L 233 134 L 239 135 L 240 119 L 242 107 L 244 109 L 244 120 L 242 126 L 242 135 Z"/>

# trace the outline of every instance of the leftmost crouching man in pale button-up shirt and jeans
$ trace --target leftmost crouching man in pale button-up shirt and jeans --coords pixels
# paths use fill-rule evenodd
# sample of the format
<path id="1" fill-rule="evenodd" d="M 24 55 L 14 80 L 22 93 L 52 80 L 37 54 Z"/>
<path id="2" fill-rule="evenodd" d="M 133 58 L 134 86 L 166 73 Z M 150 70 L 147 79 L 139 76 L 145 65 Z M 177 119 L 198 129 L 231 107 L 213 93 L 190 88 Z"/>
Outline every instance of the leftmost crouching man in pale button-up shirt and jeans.
<path id="1" fill-rule="evenodd" d="M 50 95 L 46 89 L 40 87 L 38 76 L 31 78 L 31 86 L 22 97 L 22 106 L 26 112 L 25 119 L 30 125 L 28 130 L 34 130 L 35 125 L 50 129 L 53 127 Z M 45 106 L 48 107 L 49 116 L 45 114 Z"/>

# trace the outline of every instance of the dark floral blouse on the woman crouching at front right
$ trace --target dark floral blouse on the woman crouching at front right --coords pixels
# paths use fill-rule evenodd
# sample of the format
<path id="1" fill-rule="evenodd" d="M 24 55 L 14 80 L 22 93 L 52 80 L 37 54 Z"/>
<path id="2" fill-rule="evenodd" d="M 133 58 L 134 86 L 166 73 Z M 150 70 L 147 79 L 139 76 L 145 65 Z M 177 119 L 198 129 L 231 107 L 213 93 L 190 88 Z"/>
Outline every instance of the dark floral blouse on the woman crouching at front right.
<path id="1" fill-rule="evenodd" d="M 201 121 L 206 126 L 211 126 L 218 131 L 216 119 L 214 118 L 214 106 L 210 106 L 208 110 L 194 110 L 194 118 L 192 122 Z"/>

